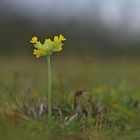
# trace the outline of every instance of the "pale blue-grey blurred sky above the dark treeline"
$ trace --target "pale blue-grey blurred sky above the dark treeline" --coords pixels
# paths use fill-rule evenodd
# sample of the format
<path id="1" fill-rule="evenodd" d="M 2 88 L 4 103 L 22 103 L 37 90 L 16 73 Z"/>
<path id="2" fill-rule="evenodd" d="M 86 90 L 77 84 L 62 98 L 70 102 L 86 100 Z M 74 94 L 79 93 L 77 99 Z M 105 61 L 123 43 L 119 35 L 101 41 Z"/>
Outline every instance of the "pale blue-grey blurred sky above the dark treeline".
<path id="1" fill-rule="evenodd" d="M 47 16 L 87 22 L 98 18 L 110 28 L 125 26 L 140 31 L 140 0 L 1 0 L 0 4 L 36 21 Z"/>

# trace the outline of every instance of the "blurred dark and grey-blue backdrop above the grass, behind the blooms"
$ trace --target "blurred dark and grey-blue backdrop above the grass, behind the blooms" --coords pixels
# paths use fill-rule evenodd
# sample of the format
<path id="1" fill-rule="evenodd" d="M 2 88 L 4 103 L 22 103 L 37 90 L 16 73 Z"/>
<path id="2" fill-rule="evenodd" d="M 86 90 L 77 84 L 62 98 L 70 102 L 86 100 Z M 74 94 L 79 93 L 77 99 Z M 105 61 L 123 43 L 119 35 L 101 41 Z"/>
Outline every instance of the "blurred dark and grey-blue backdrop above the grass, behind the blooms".
<path id="1" fill-rule="evenodd" d="M 65 55 L 139 58 L 139 0 L 0 0 L 0 55 L 30 55 L 29 40 L 62 33 Z"/>

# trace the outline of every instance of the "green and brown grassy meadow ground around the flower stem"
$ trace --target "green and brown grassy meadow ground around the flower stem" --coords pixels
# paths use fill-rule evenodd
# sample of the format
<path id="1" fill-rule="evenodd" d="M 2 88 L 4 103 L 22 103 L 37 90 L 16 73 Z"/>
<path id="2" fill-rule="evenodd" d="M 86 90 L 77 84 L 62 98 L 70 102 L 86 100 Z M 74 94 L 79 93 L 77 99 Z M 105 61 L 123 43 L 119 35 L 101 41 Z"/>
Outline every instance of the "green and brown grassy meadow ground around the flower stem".
<path id="1" fill-rule="evenodd" d="M 52 102 L 63 112 L 62 118 L 58 114 L 52 120 L 40 120 L 33 109 L 47 95 L 46 60 L 1 57 L 0 139 L 140 139 L 138 60 L 54 56 L 52 81 Z M 74 115 L 75 93 L 81 90 L 92 98 L 93 114 L 85 117 L 80 112 L 79 119 L 65 126 Z M 89 111 L 86 97 L 82 100 Z"/>

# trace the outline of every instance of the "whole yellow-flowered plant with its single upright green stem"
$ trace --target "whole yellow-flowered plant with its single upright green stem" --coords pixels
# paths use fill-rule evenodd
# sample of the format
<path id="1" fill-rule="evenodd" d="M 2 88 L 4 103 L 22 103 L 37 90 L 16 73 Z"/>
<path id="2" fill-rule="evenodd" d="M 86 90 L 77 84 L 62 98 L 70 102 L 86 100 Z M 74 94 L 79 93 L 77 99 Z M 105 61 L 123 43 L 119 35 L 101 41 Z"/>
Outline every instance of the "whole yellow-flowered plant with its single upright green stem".
<path id="1" fill-rule="evenodd" d="M 37 58 L 41 56 L 47 57 L 48 64 L 48 117 L 51 118 L 51 62 L 50 57 L 54 52 L 62 51 L 63 41 L 66 40 L 63 35 L 54 36 L 54 39 L 46 38 L 44 44 L 42 44 L 36 36 L 31 39 L 31 43 L 34 45 L 35 49 L 33 55 Z"/>

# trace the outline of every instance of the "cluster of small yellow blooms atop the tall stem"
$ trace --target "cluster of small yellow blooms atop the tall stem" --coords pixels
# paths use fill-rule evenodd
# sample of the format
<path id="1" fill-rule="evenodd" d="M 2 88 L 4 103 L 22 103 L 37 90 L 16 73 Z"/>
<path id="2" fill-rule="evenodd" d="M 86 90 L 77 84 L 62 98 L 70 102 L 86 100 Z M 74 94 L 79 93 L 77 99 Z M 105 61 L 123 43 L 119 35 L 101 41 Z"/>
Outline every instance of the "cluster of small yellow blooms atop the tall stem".
<path id="1" fill-rule="evenodd" d="M 53 52 L 60 52 L 62 51 L 62 42 L 64 40 L 66 39 L 60 34 L 59 36 L 55 36 L 53 40 L 46 38 L 44 44 L 42 44 L 38 41 L 38 38 L 34 36 L 30 41 L 35 47 L 33 55 L 39 58 L 40 56 L 50 56 Z"/>

